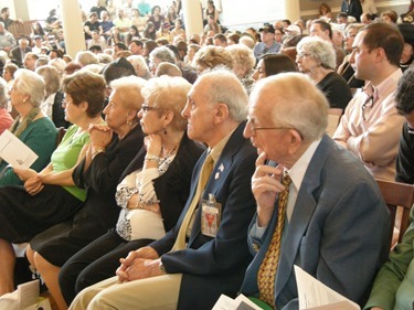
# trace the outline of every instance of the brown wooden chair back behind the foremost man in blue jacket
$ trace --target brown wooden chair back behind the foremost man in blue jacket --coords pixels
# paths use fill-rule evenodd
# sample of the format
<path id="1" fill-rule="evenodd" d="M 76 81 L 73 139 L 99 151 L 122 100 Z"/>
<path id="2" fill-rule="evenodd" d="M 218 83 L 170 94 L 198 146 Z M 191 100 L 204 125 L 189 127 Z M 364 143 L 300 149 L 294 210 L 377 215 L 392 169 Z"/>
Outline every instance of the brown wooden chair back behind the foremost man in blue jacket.
<path id="1" fill-rule="evenodd" d="M 391 236 L 393 236 L 394 225 L 396 224 L 396 226 L 400 226 L 397 242 L 401 243 L 410 226 L 410 212 L 414 204 L 414 185 L 383 180 L 376 180 L 376 182 L 391 213 Z M 396 216 L 399 206 L 402 207 L 401 218 Z M 400 223 L 395 223 L 395 221 L 400 221 Z"/>

